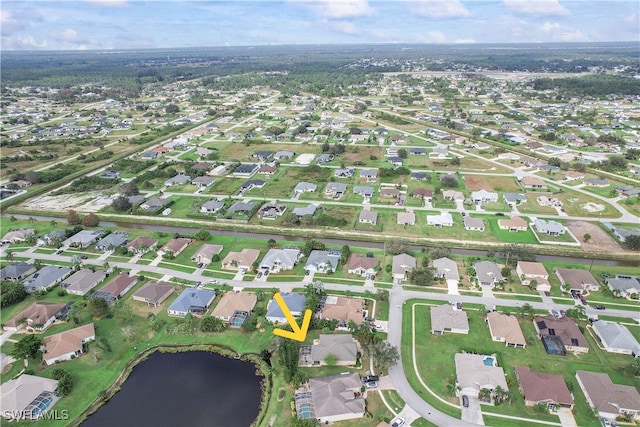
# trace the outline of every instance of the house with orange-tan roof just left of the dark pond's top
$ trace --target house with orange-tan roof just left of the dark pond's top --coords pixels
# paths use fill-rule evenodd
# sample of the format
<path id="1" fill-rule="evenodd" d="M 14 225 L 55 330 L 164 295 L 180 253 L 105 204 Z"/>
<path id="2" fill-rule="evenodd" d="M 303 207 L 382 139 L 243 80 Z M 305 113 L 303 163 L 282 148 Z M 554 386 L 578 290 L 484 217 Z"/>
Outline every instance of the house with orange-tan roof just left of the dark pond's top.
<path id="1" fill-rule="evenodd" d="M 93 323 L 50 335 L 42 340 L 42 359 L 47 365 L 71 360 L 84 353 L 84 345 L 96 339 Z"/>

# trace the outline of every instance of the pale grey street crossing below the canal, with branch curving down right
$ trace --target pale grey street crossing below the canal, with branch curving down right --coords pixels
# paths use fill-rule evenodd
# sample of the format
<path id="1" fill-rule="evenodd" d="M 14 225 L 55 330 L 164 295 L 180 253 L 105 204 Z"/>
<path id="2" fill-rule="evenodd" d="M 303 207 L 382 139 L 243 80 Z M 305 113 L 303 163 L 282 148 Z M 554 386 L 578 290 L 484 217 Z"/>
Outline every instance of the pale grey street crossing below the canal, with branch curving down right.
<path id="1" fill-rule="evenodd" d="M 19 253 L 16 252 L 16 255 L 24 255 L 31 257 L 33 259 L 42 259 L 47 261 L 66 261 L 70 262 L 71 257 L 64 255 L 51 255 L 51 254 L 39 254 L 39 253 Z M 87 259 L 83 261 L 87 265 L 96 265 L 102 266 L 104 263 L 101 260 L 97 259 Z M 190 282 L 196 281 L 207 281 L 210 279 L 209 277 L 204 277 L 199 274 L 194 273 L 185 273 L 181 271 L 171 270 L 168 268 L 152 266 L 152 265 L 141 265 L 129 262 L 109 262 L 111 267 L 119 267 L 122 269 L 135 269 L 139 272 L 152 272 L 156 274 L 168 275 L 175 278 L 187 280 Z M 240 280 L 223 280 L 223 282 L 228 283 L 233 287 L 252 287 L 252 288 L 291 288 L 292 286 L 303 286 L 303 283 L 297 284 L 296 282 L 245 282 Z M 324 283 L 324 287 L 327 290 L 331 291 L 362 291 L 362 287 L 358 285 L 343 285 L 337 283 Z M 399 350 L 402 349 L 401 340 L 402 340 L 402 307 L 405 302 L 409 299 L 432 299 L 437 301 L 452 301 L 452 302 L 462 302 L 462 303 L 475 303 L 475 304 L 485 304 L 485 305 L 496 305 L 499 304 L 501 306 L 507 307 L 520 307 L 523 304 L 530 304 L 535 309 L 549 309 L 549 301 L 544 302 L 523 302 L 517 300 L 509 300 L 509 299 L 496 299 L 496 298 L 488 298 L 481 296 L 470 296 L 470 295 L 447 295 L 440 293 L 430 293 L 430 292 L 422 292 L 422 291 L 411 291 L 405 290 L 401 286 L 394 286 L 393 289 L 389 292 L 390 304 L 389 304 L 389 323 L 388 323 L 388 341 L 396 346 Z M 573 304 L 554 304 L 554 307 L 558 310 L 566 310 L 573 307 Z M 599 313 L 597 310 L 587 307 L 587 314 L 596 314 Z M 620 317 L 632 317 L 638 319 L 640 321 L 640 306 L 637 310 L 622 310 L 622 309 L 607 309 L 607 315 L 611 316 L 620 316 Z M 408 369 L 412 369 L 412 367 L 408 367 Z M 389 376 L 391 377 L 391 381 L 393 382 L 393 386 L 398 391 L 398 394 L 402 399 L 410 406 L 410 408 L 420 414 L 423 418 L 433 422 L 439 426 L 474 426 L 476 424 L 471 424 L 466 421 L 462 421 L 457 418 L 453 418 L 447 414 L 444 414 L 435 408 L 433 408 L 430 404 L 425 402 L 423 398 L 413 390 L 409 381 L 405 376 L 405 369 L 402 364 L 402 360 L 399 363 L 389 369 Z M 426 393 L 426 391 L 425 391 Z"/>

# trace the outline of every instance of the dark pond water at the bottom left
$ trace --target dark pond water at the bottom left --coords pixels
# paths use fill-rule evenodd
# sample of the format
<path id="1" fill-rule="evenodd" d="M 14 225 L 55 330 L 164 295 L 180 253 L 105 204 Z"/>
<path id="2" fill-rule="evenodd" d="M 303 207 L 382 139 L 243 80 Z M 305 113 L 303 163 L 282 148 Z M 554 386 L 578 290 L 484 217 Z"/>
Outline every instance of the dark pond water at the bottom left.
<path id="1" fill-rule="evenodd" d="M 256 367 L 203 351 L 153 353 L 82 427 L 242 427 L 258 416 Z"/>

